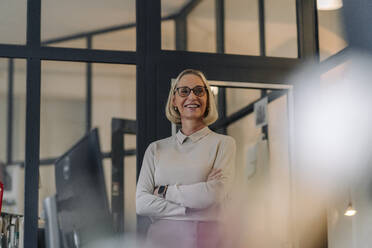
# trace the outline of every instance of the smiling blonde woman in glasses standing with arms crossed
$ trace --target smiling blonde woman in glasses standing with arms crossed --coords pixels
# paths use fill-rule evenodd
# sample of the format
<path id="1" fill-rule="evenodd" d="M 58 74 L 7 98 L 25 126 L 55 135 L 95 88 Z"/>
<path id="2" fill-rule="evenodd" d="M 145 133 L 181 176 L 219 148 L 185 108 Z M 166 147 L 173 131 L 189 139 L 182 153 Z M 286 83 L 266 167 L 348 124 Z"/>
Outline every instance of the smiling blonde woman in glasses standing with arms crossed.
<path id="1" fill-rule="evenodd" d="M 137 214 L 153 223 L 150 247 L 219 247 L 218 221 L 234 176 L 235 141 L 208 125 L 218 114 L 202 72 L 184 70 L 172 84 L 167 118 L 176 135 L 145 152 L 137 184 Z"/>

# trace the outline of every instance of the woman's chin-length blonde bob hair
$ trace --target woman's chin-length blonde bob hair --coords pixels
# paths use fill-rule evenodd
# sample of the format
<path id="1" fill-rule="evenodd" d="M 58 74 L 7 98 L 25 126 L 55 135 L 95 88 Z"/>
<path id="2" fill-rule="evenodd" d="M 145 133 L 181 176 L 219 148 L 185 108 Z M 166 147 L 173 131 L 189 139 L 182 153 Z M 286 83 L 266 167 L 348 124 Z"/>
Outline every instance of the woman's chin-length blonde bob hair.
<path id="1" fill-rule="evenodd" d="M 165 107 L 165 114 L 169 121 L 173 122 L 176 125 L 181 124 L 181 116 L 178 110 L 175 110 L 173 107 L 173 98 L 176 93 L 176 88 L 178 85 L 178 82 L 181 80 L 181 78 L 186 74 L 194 74 L 201 78 L 204 85 L 207 87 L 207 107 L 205 109 L 203 122 L 205 125 L 209 126 L 212 123 L 214 123 L 218 119 L 218 112 L 216 108 L 216 103 L 214 101 L 214 96 L 211 90 L 211 87 L 205 78 L 204 74 L 201 71 L 194 70 L 194 69 L 186 69 L 182 71 L 180 74 L 178 74 L 176 80 L 172 82 L 167 105 Z"/>

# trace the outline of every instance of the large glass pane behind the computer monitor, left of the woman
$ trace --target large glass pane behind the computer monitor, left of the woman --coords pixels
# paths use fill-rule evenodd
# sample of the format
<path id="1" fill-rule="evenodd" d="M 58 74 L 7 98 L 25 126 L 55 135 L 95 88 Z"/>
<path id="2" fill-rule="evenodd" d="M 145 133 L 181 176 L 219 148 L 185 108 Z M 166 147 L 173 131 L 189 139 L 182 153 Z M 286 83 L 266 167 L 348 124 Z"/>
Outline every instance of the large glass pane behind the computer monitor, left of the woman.
<path id="1" fill-rule="evenodd" d="M 86 66 L 86 63 L 76 62 L 42 62 L 41 158 L 62 155 L 85 134 Z M 111 152 L 112 118 L 136 118 L 136 67 L 93 63 L 92 127 L 99 128 L 104 153 Z M 135 135 L 126 135 L 125 149 L 135 148 Z M 125 230 L 134 232 L 136 157 L 126 156 L 124 162 Z M 111 158 L 105 158 L 103 165 L 110 202 Z M 40 168 L 39 204 L 54 193 L 54 168 L 43 165 Z"/>

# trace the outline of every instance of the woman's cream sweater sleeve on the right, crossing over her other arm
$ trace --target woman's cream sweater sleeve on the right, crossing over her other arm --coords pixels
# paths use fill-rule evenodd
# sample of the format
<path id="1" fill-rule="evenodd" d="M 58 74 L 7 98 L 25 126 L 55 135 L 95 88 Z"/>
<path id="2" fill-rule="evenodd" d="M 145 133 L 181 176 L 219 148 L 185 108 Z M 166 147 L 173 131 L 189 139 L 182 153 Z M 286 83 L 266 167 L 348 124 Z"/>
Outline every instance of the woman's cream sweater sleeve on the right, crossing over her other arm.
<path id="1" fill-rule="evenodd" d="M 193 209 L 204 209 L 221 202 L 231 190 L 235 174 L 235 140 L 227 136 L 218 148 L 214 169 L 222 169 L 222 178 L 189 185 L 168 187 L 166 199 Z"/>

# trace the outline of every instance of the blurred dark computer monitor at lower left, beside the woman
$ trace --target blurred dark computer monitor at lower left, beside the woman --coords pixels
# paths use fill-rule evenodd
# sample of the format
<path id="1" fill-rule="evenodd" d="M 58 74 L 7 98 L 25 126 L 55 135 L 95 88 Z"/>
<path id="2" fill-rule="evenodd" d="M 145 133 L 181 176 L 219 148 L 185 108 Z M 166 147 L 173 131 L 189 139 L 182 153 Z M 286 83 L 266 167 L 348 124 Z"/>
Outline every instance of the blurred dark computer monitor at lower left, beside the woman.
<path id="1" fill-rule="evenodd" d="M 98 130 L 55 162 L 56 205 L 62 247 L 89 247 L 112 234 Z"/>

